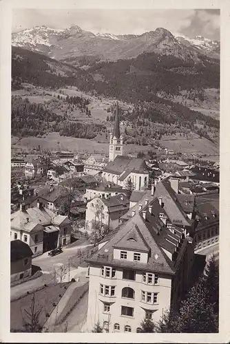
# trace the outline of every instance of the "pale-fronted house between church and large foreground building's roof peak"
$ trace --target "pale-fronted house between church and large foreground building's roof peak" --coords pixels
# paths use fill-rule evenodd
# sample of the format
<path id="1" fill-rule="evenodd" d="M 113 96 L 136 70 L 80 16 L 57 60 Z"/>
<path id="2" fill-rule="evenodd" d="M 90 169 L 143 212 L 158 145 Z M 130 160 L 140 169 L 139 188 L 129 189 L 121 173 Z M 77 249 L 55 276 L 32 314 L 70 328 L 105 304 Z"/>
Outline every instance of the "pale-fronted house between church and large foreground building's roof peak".
<path id="1" fill-rule="evenodd" d="M 129 210 L 129 200 L 124 194 L 113 197 L 96 197 L 87 203 L 85 230 L 91 231 L 94 222 L 101 222 L 110 229 L 119 226 L 120 218 Z"/>

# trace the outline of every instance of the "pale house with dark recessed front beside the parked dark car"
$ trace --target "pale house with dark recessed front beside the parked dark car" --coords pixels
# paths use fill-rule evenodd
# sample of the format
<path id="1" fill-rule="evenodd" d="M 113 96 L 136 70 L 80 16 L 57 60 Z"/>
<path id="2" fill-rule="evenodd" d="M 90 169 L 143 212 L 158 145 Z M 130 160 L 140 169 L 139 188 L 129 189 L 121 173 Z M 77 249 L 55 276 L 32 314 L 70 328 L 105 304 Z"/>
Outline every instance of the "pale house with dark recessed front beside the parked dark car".
<path id="1" fill-rule="evenodd" d="M 71 222 L 67 216 L 56 215 L 39 202 L 32 208 L 21 204 L 10 215 L 10 239 L 19 239 L 30 246 L 34 255 L 70 243 Z"/>

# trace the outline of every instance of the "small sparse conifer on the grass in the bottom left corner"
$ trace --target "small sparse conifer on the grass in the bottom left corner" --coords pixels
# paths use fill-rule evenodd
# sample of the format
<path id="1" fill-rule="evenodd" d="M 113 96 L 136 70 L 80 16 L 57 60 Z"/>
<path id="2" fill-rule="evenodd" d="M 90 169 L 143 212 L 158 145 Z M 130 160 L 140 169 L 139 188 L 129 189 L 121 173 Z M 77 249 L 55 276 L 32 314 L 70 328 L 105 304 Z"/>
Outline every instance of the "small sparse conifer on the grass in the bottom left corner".
<path id="1" fill-rule="evenodd" d="M 30 310 L 25 310 L 25 318 L 23 318 L 23 327 L 25 329 L 25 332 L 41 332 L 43 327 L 40 323 L 40 314 L 43 308 L 36 309 L 35 304 L 35 293 L 33 293 L 32 301 L 30 305 Z"/>

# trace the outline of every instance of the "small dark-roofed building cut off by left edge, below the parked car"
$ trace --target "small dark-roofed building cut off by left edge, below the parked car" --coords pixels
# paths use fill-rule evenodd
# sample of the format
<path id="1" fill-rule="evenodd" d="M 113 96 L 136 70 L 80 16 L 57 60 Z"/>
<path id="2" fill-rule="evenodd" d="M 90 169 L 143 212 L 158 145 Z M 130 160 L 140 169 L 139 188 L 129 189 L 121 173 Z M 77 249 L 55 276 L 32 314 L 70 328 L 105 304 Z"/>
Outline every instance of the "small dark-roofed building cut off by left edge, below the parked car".
<path id="1" fill-rule="evenodd" d="M 17 239 L 10 242 L 10 281 L 18 281 L 32 274 L 32 255 L 30 246 Z"/>

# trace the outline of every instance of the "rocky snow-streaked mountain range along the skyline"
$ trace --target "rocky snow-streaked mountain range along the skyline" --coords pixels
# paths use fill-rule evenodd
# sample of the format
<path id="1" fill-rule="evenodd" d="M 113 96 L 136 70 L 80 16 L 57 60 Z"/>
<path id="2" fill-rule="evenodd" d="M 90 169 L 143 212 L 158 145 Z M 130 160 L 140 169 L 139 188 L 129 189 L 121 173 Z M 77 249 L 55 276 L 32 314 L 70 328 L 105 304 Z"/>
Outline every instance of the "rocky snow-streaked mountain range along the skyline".
<path id="1" fill-rule="evenodd" d="M 135 58 L 143 53 L 173 55 L 182 61 L 200 62 L 200 54 L 220 58 L 220 42 L 202 36 L 190 39 L 174 36 L 164 28 L 140 35 L 94 34 L 77 25 L 67 29 L 36 26 L 12 34 L 12 45 L 45 54 L 57 61 L 75 66 L 82 65 L 81 58 L 88 61 L 117 61 Z"/>

